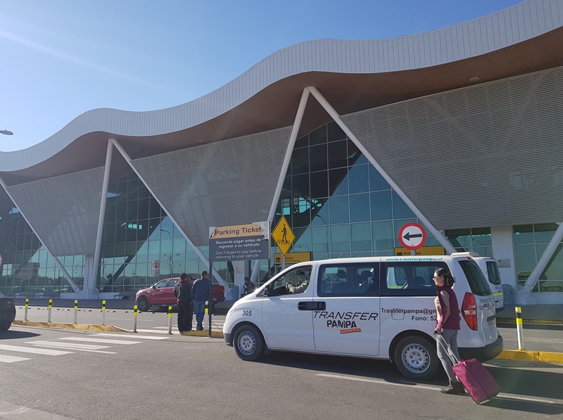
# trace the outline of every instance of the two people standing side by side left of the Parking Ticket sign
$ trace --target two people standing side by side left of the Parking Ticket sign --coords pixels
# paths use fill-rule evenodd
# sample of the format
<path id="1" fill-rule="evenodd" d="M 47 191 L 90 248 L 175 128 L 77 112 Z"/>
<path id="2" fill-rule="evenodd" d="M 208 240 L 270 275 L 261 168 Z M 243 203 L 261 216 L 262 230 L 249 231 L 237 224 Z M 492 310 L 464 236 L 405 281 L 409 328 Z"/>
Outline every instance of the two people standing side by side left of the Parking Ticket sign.
<path id="1" fill-rule="evenodd" d="M 196 281 L 189 274 L 180 274 L 180 281 L 174 288 L 174 295 L 178 303 L 178 331 L 180 333 L 192 331 L 194 312 L 196 313 L 196 331 L 203 331 L 205 301 L 211 301 L 209 286 L 207 272 L 201 272 L 201 277 Z"/>

